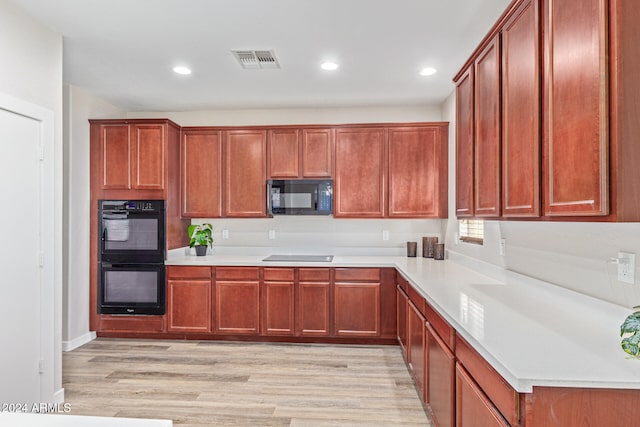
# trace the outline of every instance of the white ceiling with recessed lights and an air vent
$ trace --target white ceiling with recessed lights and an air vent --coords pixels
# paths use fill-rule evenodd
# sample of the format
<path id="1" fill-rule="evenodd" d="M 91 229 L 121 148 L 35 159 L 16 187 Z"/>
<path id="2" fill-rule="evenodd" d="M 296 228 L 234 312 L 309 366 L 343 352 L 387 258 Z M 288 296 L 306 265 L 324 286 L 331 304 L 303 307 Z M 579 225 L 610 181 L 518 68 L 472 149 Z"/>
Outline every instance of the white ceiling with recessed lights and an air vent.
<path id="1" fill-rule="evenodd" d="M 13 1 L 63 35 L 66 83 L 132 112 L 439 104 L 510 3 Z M 273 49 L 281 69 L 244 70 L 232 49 Z M 340 68 L 322 71 L 327 59 Z"/>

